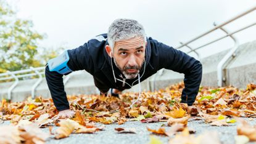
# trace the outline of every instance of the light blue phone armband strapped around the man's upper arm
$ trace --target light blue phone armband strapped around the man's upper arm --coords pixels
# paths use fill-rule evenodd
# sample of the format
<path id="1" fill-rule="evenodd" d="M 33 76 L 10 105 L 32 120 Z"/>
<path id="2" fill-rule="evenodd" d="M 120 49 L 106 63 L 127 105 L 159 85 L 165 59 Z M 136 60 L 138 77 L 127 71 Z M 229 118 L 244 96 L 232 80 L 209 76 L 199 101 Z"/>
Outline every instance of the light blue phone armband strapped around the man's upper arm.
<path id="1" fill-rule="evenodd" d="M 60 74 L 67 74 L 72 72 L 70 68 L 68 68 L 68 51 L 65 50 L 65 52 L 61 55 L 59 55 L 56 58 L 52 58 L 51 60 L 48 61 L 48 66 L 50 71 L 57 71 Z"/>

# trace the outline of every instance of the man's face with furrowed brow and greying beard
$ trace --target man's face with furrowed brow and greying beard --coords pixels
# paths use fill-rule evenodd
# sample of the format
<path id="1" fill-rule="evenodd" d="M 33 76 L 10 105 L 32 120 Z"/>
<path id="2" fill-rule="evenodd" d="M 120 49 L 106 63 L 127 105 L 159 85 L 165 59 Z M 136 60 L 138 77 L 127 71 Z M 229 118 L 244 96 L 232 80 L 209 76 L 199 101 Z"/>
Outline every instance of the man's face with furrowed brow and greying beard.
<path id="1" fill-rule="evenodd" d="M 145 49 L 146 42 L 142 37 L 115 42 L 112 57 L 126 79 L 134 79 L 138 76 L 144 62 Z"/>

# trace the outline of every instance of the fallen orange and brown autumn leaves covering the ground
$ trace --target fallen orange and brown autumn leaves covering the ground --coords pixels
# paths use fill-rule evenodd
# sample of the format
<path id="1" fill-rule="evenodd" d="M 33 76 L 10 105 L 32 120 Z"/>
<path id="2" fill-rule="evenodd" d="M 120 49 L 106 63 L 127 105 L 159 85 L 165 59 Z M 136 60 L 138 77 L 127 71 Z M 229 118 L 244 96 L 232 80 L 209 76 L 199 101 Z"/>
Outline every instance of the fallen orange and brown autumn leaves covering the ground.
<path id="1" fill-rule="evenodd" d="M 193 106 L 180 103 L 183 88 L 183 83 L 175 84 L 155 92 L 141 92 L 140 97 L 134 92 L 124 93 L 120 98 L 102 95 L 68 95 L 70 109 L 75 111 L 75 116 L 71 119 L 58 117 L 58 111 L 51 98 L 38 97 L 34 100 L 28 98 L 24 102 L 13 103 L 3 99 L 0 105 L 0 119 L 9 120 L 12 126 L 4 126 L 0 129 L 10 129 L 10 134 L 13 135 L 0 133 L 0 140 L 1 142 L 9 140 L 7 141 L 9 143 L 38 143 L 38 141 L 41 143 L 48 137 L 59 139 L 68 137 L 72 133 L 94 133 L 104 129 L 103 125 L 97 127 L 96 122 L 123 124 L 127 121 L 142 123 L 164 121 L 171 127 L 169 130 L 165 130 L 164 127 L 157 130 L 147 127 L 147 130 L 170 137 L 170 143 L 182 143 L 184 140 L 194 142 L 190 139 L 196 140 L 194 143 L 197 143 L 212 137 L 204 134 L 196 138 L 191 135 L 194 130 L 190 130 L 187 123 L 197 119 L 204 119 L 210 126 L 229 126 L 230 123 L 240 121 L 242 125 L 237 126 L 237 134 L 243 135 L 243 139 L 246 137 L 250 141 L 256 140 L 256 126 L 250 126 L 247 122 L 237 119 L 237 117 L 256 117 L 255 84 L 248 84 L 247 89 L 237 89 L 232 86 L 217 89 L 200 87 Z M 138 97 L 138 101 L 131 106 Z M 52 126 L 59 128 L 52 132 Z M 36 137 L 34 131 L 41 132 L 38 127 L 49 127 L 51 136 L 45 134 L 45 137 Z M 119 127 L 115 130 L 118 133 L 134 133 L 133 129 Z M 7 138 L 6 135 L 11 138 Z M 178 138 L 182 139 L 182 137 L 183 141 L 180 141 Z"/>

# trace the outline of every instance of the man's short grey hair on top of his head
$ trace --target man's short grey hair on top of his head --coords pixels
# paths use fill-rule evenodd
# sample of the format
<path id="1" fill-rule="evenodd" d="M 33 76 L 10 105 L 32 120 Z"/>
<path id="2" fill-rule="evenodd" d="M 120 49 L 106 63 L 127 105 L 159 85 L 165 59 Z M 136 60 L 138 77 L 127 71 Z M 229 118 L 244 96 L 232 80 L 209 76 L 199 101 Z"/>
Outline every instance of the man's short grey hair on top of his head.
<path id="1" fill-rule="evenodd" d="M 115 42 L 141 36 L 146 41 L 146 34 L 143 26 L 136 20 L 120 18 L 115 20 L 110 26 L 107 33 L 109 46 L 114 50 Z"/>

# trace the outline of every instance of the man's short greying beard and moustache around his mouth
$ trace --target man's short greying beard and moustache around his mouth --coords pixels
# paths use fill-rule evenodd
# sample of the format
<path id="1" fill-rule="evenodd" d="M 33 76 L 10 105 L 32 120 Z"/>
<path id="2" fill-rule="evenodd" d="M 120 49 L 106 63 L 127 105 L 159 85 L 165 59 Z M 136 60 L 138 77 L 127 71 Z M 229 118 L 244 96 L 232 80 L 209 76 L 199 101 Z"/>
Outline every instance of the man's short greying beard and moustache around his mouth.
<path id="1" fill-rule="evenodd" d="M 117 66 L 117 68 L 123 73 L 123 75 L 125 75 L 125 78 L 126 79 L 134 79 L 138 76 L 139 74 L 139 70 L 141 70 L 141 66 L 139 65 L 135 65 L 135 66 L 125 66 L 123 69 L 118 65 L 118 63 L 115 61 L 115 58 L 114 59 L 114 63 L 115 65 Z M 142 63 L 143 64 L 143 63 Z M 134 70 L 137 70 L 136 72 L 134 73 L 127 73 L 126 70 L 129 70 L 129 69 L 134 69 Z"/>

